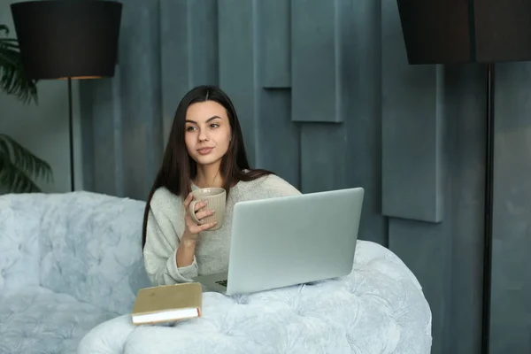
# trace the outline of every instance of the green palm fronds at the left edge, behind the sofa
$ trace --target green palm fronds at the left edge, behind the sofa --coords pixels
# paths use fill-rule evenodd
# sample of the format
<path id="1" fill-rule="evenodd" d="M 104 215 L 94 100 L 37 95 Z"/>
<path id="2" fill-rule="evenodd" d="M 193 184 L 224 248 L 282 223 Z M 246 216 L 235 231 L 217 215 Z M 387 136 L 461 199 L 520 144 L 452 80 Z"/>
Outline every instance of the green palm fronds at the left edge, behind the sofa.
<path id="1" fill-rule="evenodd" d="M 28 79 L 24 72 L 19 42 L 7 35 L 8 27 L 0 24 L 0 91 L 18 97 L 23 104 L 37 104 L 36 81 Z M 9 135 L 0 133 L 0 190 L 41 192 L 36 180 L 52 180 L 50 165 Z"/>

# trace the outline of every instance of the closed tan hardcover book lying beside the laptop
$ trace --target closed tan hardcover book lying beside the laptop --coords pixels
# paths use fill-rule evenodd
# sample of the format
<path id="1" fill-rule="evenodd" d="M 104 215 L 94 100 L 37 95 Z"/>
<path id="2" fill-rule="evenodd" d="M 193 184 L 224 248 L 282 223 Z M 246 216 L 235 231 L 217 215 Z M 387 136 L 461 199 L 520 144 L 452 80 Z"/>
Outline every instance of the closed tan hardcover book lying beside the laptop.
<path id="1" fill-rule="evenodd" d="M 131 312 L 134 325 L 201 317 L 203 288 L 198 282 L 138 290 Z"/>

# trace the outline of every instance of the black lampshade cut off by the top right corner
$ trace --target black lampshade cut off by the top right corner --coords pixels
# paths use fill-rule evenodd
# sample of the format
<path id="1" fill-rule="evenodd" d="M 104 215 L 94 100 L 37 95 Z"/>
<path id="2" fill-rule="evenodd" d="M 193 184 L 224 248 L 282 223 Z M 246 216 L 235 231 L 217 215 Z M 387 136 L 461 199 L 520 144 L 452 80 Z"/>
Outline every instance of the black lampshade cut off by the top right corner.
<path id="1" fill-rule="evenodd" d="M 531 0 L 397 0 L 410 64 L 531 60 Z"/>

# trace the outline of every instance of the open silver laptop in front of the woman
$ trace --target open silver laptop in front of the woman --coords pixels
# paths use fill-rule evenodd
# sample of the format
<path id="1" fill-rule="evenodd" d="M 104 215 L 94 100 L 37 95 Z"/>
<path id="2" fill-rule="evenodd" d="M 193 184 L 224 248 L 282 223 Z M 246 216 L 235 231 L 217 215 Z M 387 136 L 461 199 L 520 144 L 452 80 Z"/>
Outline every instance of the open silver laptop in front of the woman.
<path id="1" fill-rule="evenodd" d="M 355 188 L 236 203 L 228 272 L 195 281 L 231 296 L 347 275 L 363 197 Z"/>

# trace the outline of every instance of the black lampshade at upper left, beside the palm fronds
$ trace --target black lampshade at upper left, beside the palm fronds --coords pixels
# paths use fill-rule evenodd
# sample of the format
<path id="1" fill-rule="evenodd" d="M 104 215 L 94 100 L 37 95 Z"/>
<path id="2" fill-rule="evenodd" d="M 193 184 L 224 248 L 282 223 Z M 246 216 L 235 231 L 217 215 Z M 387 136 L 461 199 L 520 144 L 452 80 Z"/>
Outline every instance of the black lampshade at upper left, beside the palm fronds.
<path id="1" fill-rule="evenodd" d="M 11 9 L 22 63 L 32 79 L 114 75 L 122 4 L 42 0 Z"/>

